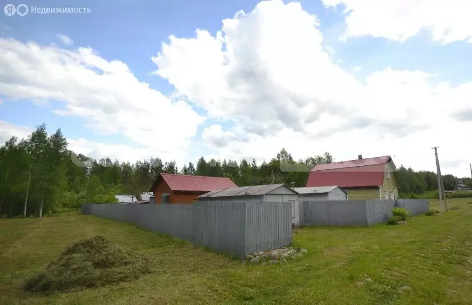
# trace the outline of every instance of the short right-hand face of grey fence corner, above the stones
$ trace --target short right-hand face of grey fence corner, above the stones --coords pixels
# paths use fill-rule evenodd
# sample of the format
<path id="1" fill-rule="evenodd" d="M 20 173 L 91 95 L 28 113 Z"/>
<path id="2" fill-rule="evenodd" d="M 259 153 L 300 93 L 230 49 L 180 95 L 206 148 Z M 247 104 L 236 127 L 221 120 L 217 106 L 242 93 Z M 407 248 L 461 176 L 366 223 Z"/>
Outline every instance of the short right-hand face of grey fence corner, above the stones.
<path id="1" fill-rule="evenodd" d="M 283 202 L 246 204 L 245 253 L 292 244 L 292 205 Z"/>

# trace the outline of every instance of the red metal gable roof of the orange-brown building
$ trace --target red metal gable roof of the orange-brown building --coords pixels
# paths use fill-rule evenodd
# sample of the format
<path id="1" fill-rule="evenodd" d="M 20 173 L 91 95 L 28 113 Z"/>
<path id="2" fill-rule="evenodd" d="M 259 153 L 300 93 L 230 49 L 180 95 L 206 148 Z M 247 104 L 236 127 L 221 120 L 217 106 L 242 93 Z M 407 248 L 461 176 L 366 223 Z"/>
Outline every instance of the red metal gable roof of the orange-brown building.
<path id="1" fill-rule="evenodd" d="M 229 178 L 161 173 L 152 183 L 149 191 L 153 192 L 162 181 L 167 183 L 173 191 L 209 192 L 215 189 L 237 187 Z"/>

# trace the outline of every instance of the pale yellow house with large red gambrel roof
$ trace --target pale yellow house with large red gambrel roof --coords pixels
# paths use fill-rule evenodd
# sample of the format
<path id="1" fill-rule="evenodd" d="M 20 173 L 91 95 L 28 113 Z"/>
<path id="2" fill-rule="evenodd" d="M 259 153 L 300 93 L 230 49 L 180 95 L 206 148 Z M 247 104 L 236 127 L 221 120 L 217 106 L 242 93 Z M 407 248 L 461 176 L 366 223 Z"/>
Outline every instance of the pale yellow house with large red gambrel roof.
<path id="1" fill-rule="evenodd" d="M 338 185 L 348 191 L 348 200 L 396 199 L 395 164 L 389 155 L 318 164 L 311 171 L 307 187 Z"/>

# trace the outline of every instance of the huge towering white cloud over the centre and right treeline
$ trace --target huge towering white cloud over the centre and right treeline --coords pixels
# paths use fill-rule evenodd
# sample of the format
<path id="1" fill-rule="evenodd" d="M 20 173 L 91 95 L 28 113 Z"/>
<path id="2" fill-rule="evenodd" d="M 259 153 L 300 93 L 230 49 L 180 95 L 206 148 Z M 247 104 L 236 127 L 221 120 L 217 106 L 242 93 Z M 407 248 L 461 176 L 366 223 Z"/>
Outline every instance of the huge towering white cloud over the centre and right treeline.
<path id="1" fill-rule="evenodd" d="M 316 16 L 298 3 L 265 1 L 223 20 L 215 36 L 171 36 L 152 58 L 154 74 L 210 117 L 234 122 L 229 130 L 204 131 L 220 158 L 262 161 L 285 147 L 295 158 L 391 154 L 397 163 L 434 170 L 431 146 L 442 147 L 448 164 L 472 149 L 461 140 L 472 136 L 472 84 L 430 85 L 434 75 L 389 68 L 362 84 L 333 62 L 322 41 Z M 467 168 L 448 170 L 468 175 Z"/>

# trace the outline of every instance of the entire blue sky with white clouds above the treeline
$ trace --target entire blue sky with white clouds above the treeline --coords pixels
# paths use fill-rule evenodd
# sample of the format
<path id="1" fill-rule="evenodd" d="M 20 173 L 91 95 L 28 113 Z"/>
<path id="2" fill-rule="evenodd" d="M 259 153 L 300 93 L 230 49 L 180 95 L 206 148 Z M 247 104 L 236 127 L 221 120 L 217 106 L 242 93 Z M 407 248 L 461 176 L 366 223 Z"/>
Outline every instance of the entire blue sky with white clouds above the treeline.
<path id="1" fill-rule="evenodd" d="M 443 174 L 471 176 L 469 1 L 110 3 L 1 1 L 1 142 L 44 122 L 96 159 L 285 148 L 432 171 L 438 146 Z"/>

